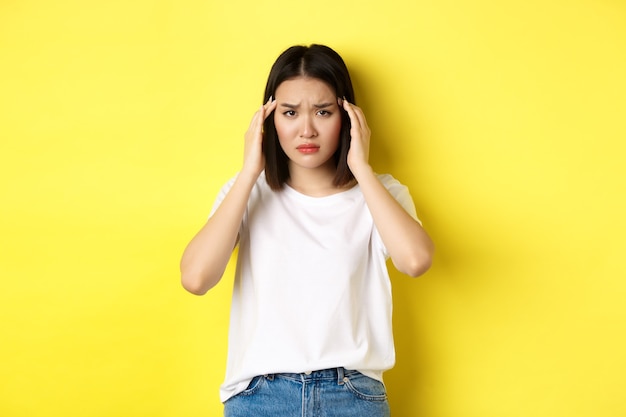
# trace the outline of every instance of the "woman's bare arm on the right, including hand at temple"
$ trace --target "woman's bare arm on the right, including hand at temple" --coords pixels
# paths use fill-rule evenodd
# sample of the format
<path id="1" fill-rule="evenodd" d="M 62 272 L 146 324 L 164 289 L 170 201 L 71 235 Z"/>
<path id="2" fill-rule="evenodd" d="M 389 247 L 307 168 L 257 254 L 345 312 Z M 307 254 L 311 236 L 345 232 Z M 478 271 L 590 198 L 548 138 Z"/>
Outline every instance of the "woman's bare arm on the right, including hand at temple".
<path id="1" fill-rule="evenodd" d="M 348 166 L 359 182 L 391 260 L 402 273 L 413 277 L 422 275 L 432 263 L 433 242 L 381 184 L 369 165 L 370 130 L 361 109 L 346 100 L 343 100 L 343 108 L 352 125 Z"/>

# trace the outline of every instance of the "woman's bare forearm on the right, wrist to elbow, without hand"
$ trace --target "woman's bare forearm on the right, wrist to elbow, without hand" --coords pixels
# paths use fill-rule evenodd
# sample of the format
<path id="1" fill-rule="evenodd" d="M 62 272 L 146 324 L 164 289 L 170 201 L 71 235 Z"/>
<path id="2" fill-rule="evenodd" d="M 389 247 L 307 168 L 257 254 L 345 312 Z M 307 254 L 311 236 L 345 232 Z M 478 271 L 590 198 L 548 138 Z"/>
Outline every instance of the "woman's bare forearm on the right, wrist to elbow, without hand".
<path id="1" fill-rule="evenodd" d="M 378 180 L 369 165 L 353 170 L 376 228 L 394 266 L 416 277 L 430 268 L 434 246 L 413 219 Z"/>

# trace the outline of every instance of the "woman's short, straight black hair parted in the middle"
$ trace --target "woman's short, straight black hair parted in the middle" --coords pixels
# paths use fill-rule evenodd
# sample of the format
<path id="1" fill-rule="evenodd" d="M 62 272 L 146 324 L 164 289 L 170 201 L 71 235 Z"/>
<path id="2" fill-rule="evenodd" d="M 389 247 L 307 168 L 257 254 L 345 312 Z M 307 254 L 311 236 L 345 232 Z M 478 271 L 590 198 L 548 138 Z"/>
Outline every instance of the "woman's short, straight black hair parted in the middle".
<path id="1" fill-rule="evenodd" d="M 276 89 L 287 80 L 310 77 L 325 82 L 338 98 L 345 98 L 355 104 L 354 89 L 350 73 L 341 56 L 325 45 L 292 46 L 285 50 L 274 62 L 265 86 L 263 103 L 276 97 Z M 333 184 L 343 186 L 354 179 L 348 167 L 350 149 L 350 117 L 341 111 L 341 132 L 339 146 L 334 154 L 337 171 Z M 289 159 L 278 141 L 274 118 L 267 117 L 263 124 L 263 154 L 265 155 L 265 176 L 273 190 L 280 190 L 289 179 Z"/>

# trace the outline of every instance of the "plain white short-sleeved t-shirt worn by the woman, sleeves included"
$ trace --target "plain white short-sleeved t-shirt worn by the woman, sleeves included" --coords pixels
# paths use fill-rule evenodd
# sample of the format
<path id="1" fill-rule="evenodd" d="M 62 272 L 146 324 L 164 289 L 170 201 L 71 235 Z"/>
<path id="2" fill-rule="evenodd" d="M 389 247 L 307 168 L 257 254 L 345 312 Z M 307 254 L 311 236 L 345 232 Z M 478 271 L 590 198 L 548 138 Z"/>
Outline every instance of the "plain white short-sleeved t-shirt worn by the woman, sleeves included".
<path id="1" fill-rule="evenodd" d="M 417 220 L 408 189 L 378 179 Z M 395 363 L 388 255 L 360 187 L 310 197 L 262 173 L 239 236 L 222 402 L 271 373 L 342 366 L 382 381 Z"/>

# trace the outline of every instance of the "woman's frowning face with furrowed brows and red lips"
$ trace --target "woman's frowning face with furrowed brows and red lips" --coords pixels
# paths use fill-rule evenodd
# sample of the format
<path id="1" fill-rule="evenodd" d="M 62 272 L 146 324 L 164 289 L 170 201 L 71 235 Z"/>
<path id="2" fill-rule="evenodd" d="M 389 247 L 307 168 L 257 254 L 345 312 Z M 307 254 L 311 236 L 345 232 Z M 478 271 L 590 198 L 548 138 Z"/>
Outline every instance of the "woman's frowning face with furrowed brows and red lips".
<path id="1" fill-rule="evenodd" d="M 274 125 L 289 169 L 335 171 L 341 113 L 337 97 L 325 82 L 299 77 L 276 89 Z"/>

